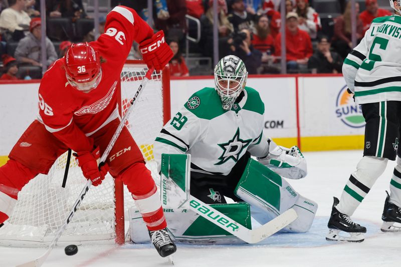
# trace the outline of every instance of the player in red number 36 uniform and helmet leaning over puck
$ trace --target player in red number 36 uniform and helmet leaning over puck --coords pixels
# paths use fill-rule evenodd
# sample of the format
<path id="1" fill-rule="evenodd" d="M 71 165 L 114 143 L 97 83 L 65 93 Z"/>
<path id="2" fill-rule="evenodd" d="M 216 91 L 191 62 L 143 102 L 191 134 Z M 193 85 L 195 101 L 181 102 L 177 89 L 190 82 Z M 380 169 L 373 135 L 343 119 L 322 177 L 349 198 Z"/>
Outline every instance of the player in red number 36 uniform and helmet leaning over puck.
<path id="1" fill-rule="evenodd" d="M 134 41 L 140 44 L 149 67 L 161 70 L 172 58 L 162 31 L 153 34 L 134 10 L 118 6 L 107 15 L 105 33 L 97 41 L 72 45 L 44 74 L 38 118 L 13 147 L 10 160 L 0 167 L 0 224 L 11 215 L 18 192 L 39 173 L 47 174 L 55 160 L 71 148 L 83 175 L 94 186 L 107 172 L 120 177 L 132 193 L 159 254 L 175 252 L 165 230 L 156 185 L 126 128 L 106 164 L 98 169 L 97 159 L 120 122 L 120 73 Z M 129 147 L 124 155 L 109 160 Z"/>

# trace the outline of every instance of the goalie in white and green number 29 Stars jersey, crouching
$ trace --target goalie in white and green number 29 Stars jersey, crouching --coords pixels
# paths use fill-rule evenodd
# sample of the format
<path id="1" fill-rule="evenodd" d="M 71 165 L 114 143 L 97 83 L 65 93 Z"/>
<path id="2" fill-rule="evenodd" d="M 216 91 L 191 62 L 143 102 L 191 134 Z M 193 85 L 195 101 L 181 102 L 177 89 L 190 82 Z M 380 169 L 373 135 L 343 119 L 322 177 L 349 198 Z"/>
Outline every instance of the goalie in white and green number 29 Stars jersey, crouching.
<path id="1" fill-rule="evenodd" d="M 294 208 L 298 218 L 285 230 L 308 231 L 317 204 L 282 178 L 305 177 L 306 161 L 296 146 L 283 148 L 264 137 L 264 103 L 245 86 L 247 77 L 241 59 L 221 59 L 215 88 L 194 93 L 164 125 L 154 143 L 155 160 L 160 170 L 161 154 L 190 154 L 190 194 L 197 199 L 207 204 L 227 203 L 225 196 L 245 201 L 261 224 Z"/>

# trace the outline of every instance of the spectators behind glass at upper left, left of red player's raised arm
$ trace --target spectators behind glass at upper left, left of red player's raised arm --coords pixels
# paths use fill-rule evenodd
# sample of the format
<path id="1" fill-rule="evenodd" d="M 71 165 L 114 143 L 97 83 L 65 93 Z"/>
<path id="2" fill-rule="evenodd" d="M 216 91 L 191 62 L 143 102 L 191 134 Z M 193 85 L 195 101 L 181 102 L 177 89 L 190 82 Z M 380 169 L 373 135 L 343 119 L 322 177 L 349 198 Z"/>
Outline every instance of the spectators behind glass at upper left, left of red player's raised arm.
<path id="1" fill-rule="evenodd" d="M 94 28 L 82 0 L 45 0 L 46 68 L 64 56 L 71 42 L 90 40 Z M 0 54 L 2 80 L 42 77 L 42 21 L 39 0 L 0 0 Z M 87 20 L 86 24 L 79 24 Z M 78 26 L 79 24 L 79 26 Z M 99 26 L 100 27 L 100 26 Z M 84 31 L 83 34 L 76 33 Z M 58 33 L 55 35 L 50 34 Z M 87 38 L 87 40 L 84 40 Z M 67 43 L 66 43 L 67 42 Z M 68 45 L 66 45 L 68 44 Z"/>

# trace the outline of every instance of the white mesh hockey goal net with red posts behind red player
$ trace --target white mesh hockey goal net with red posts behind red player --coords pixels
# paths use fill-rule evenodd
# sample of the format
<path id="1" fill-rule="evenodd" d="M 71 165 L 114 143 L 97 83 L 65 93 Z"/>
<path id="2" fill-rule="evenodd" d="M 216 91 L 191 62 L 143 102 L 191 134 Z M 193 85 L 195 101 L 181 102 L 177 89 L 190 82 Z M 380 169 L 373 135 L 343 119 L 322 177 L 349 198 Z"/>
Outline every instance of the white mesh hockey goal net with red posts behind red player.
<path id="1" fill-rule="evenodd" d="M 147 67 L 142 61 L 129 60 L 124 65 L 121 73 L 122 115 L 146 72 Z M 157 175 L 152 162 L 153 140 L 169 119 L 169 96 L 168 69 L 154 72 L 135 101 L 134 111 L 126 123 L 152 175 Z M 53 240 L 86 183 L 72 158 L 66 185 L 62 187 L 66 162 L 67 152 L 57 159 L 48 175 L 38 175 L 23 188 L 13 214 L 0 228 L 0 244 L 41 246 Z M 90 188 L 58 242 L 122 244 L 128 225 L 128 208 L 134 204 L 121 180 L 108 174 L 101 185 Z"/>

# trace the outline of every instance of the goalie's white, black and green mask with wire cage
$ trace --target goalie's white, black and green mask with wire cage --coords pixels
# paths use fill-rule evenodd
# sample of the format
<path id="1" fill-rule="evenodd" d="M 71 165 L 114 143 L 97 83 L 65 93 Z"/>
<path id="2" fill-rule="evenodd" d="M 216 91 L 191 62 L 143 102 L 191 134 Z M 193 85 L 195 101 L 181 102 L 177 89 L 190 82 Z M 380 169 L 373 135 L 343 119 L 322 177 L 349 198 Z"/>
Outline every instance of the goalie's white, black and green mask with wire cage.
<path id="1" fill-rule="evenodd" d="M 245 88 L 248 72 L 244 62 L 236 56 L 222 58 L 215 67 L 215 85 L 223 109 L 230 110 Z"/>

